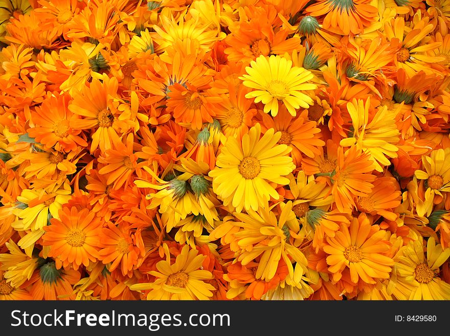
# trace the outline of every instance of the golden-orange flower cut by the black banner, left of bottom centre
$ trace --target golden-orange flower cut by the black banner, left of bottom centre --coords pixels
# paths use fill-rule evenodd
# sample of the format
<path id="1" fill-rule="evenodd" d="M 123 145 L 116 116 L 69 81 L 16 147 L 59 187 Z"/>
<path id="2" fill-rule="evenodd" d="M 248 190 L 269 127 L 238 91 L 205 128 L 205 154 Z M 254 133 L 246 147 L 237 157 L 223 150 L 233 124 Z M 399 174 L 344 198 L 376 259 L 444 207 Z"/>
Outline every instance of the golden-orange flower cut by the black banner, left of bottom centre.
<path id="1" fill-rule="evenodd" d="M 147 290 L 147 300 L 209 300 L 215 288 L 203 281 L 213 278 L 211 272 L 202 270 L 206 256 L 198 255 L 197 250 L 191 250 L 184 245 L 181 253 L 172 264 L 167 245 L 165 245 L 166 260 L 156 263 L 158 271 L 149 274 L 156 277 L 154 282 L 131 285 L 132 290 Z"/>

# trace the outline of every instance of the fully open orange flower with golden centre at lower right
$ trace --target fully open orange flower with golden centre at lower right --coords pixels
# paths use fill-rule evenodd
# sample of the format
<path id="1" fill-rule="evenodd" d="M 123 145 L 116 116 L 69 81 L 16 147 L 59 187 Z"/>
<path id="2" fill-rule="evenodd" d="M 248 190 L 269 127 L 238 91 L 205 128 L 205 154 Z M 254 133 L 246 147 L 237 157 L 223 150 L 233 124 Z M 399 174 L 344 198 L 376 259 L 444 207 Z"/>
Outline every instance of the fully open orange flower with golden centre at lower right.
<path id="1" fill-rule="evenodd" d="M 358 283 L 375 284 L 375 279 L 389 279 L 394 260 L 385 255 L 389 242 L 384 240 L 386 232 L 378 225 L 370 225 L 365 214 L 353 218 L 350 228 L 342 224 L 334 237 L 327 237 L 323 247 L 333 281 L 339 281 L 342 272 L 348 268 L 350 279 Z"/>

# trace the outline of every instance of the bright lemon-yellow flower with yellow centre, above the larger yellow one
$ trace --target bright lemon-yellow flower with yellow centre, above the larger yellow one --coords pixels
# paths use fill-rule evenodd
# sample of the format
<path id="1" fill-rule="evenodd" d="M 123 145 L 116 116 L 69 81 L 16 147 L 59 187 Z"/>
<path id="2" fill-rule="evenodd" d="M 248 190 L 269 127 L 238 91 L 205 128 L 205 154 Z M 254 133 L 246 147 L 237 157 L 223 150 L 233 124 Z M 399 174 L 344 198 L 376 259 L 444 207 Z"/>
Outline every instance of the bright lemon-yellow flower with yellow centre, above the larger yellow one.
<path id="1" fill-rule="evenodd" d="M 259 56 L 245 68 L 247 74 L 239 77 L 247 87 L 254 91 L 247 93 L 245 98 L 255 98 L 255 103 L 264 104 L 264 113 L 278 114 L 279 103 L 283 103 L 289 113 L 295 117 L 296 108 L 308 108 L 314 102 L 302 91 L 317 88 L 316 84 L 307 83 L 312 79 L 311 72 L 298 66 L 292 66 L 292 61 L 281 56 Z"/>

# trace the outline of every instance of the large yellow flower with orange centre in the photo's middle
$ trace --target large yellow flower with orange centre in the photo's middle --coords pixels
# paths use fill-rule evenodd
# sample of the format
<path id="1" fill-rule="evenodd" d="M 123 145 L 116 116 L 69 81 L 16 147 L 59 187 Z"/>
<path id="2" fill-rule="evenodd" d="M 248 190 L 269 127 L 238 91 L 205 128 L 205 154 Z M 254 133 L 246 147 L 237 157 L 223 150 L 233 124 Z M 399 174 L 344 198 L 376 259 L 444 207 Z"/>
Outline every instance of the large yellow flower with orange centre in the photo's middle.
<path id="1" fill-rule="evenodd" d="M 230 137 L 217 156 L 217 168 L 209 172 L 214 192 L 225 206 L 232 204 L 237 212 L 243 208 L 258 210 L 270 197 L 278 199 L 280 195 L 271 183 L 288 184 L 288 178 L 283 176 L 295 169 L 292 158 L 286 155 L 291 148 L 277 145 L 281 132 L 274 134 L 270 128 L 261 139 L 260 135 L 258 123 L 240 143 Z"/>

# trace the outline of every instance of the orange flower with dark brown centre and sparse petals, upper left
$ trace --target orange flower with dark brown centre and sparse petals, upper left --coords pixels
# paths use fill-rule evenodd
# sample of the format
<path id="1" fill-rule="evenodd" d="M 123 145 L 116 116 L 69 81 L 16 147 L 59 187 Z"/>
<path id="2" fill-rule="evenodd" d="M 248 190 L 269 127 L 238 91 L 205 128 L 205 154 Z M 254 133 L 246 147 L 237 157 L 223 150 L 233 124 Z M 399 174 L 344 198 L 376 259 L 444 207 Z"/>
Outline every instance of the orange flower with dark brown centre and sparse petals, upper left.
<path id="1" fill-rule="evenodd" d="M 72 113 L 84 117 L 71 120 L 73 129 L 95 129 L 91 136 L 91 152 L 98 147 L 102 151 L 110 149 L 113 143 L 119 142 L 118 132 L 128 128 L 126 122 L 119 120 L 118 86 L 116 78 L 103 75 L 102 81 L 94 79 L 90 86 L 84 86 L 76 93 L 69 105 Z"/>

